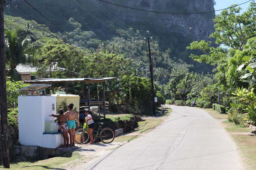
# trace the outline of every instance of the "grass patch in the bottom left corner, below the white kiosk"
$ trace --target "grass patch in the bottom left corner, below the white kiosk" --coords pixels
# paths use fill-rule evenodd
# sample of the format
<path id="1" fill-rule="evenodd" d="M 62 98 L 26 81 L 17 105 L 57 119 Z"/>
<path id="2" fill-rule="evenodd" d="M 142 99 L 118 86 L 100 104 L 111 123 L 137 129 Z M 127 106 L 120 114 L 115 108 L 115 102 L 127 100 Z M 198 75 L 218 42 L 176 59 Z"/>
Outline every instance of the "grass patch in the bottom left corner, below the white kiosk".
<path id="1" fill-rule="evenodd" d="M 73 166 L 73 163 L 77 160 L 83 160 L 83 155 L 79 151 L 69 152 L 65 157 L 54 157 L 47 160 L 39 160 L 36 162 L 13 162 L 10 164 L 11 170 L 46 170 L 46 169 L 58 169 L 65 170 L 65 167 Z M 1 170 L 3 169 L 0 166 Z"/>

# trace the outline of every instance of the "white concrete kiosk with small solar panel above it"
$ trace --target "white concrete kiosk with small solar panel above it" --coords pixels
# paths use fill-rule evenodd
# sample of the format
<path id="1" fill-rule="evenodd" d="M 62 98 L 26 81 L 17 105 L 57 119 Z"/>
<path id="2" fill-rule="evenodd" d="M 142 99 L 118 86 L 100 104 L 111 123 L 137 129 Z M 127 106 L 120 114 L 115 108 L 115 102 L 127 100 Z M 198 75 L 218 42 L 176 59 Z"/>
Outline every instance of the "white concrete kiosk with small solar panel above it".
<path id="1" fill-rule="evenodd" d="M 57 148 L 64 144 L 62 133 L 45 133 L 45 122 L 56 114 L 55 96 L 18 97 L 19 141 L 22 145 Z"/>

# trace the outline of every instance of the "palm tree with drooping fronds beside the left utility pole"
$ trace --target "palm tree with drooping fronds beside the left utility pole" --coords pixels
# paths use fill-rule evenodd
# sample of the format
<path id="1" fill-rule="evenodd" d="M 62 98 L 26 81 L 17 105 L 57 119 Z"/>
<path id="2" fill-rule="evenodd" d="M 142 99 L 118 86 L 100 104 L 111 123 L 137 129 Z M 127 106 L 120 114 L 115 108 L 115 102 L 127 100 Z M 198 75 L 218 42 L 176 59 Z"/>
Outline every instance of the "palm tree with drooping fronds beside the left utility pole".
<path id="1" fill-rule="evenodd" d="M 21 80 L 16 67 L 18 64 L 24 66 L 34 65 L 33 57 L 28 54 L 29 50 L 34 46 L 31 46 L 31 39 L 22 39 L 24 31 L 22 30 L 9 30 L 5 31 L 5 58 L 8 69 L 6 71 L 7 76 L 15 81 Z"/>

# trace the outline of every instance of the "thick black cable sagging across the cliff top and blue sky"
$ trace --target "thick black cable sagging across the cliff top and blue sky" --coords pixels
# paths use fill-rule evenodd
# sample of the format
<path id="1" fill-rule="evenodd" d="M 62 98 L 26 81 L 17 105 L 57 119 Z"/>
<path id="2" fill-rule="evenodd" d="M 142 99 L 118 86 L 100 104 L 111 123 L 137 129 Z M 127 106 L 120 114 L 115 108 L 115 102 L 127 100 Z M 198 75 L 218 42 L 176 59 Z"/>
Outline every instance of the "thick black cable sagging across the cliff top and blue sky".
<path id="1" fill-rule="evenodd" d="M 220 10 L 226 10 L 226 9 L 229 9 L 229 8 L 237 7 L 237 6 L 239 6 L 239 5 L 242 5 L 242 4 L 245 4 L 245 3 L 247 3 L 247 2 L 250 2 L 251 0 L 249 0 L 249 1 L 247 1 L 247 2 L 244 2 L 244 3 L 242 3 L 242 4 L 235 5 L 235 6 L 233 6 L 233 7 L 228 7 L 228 8 L 224 8 L 224 9 L 220 9 L 220 10 L 207 11 L 207 12 L 195 12 L 195 13 L 168 13 L 168 12 L 159 12 L 159 11 L 143 10 L 143 9 L 138 9 L 138 8 L 127 7 L 127 6 L 123 6 L 123 5 L 119 5 L 119 4 L 114 4 L 114 3 L 107 2 L 107 1 L 103 1 L 103 0 L 98 0 L 98 1 L 102 1 L 102 2 L 105 2 L 105 3 L 108 3 L 108 4 L 117 5 L 117 6 L 120 6 L 120 7 L 129 8 L 129 9 L 141 10 L 141 11 L 147 11 L 147 12 L 154 12 L 154 13 L 165 13 L 165 14 L 200 14 L 200 13 L 210 13 L 210 12 L 215 12 L 215 11 L 220 11 Z"/>

